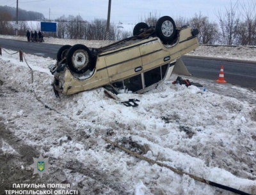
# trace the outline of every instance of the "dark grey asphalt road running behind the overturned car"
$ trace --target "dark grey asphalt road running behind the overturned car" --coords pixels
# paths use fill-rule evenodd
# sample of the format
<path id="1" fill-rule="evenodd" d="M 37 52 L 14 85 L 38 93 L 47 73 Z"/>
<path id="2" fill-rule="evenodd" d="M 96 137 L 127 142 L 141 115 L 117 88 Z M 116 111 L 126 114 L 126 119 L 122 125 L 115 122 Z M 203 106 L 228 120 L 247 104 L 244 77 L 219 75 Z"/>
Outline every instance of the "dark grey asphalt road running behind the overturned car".
<path id="1" fill-rule="evenodd" d="M 22 49 L 23 52 L 56 59 L 58 49 L 62 45 L 47 43 L 31 43 L 26 41 L 0 39 L 3 48 L 11 50 Z M 217 80 L 221 64 L 224 66 L 225 80 L 234 85 L 256 89 L 256 64 L 246 62 L 230 62 L 209 59 L 182 57 L 189 73 L 198 78 Z"/>

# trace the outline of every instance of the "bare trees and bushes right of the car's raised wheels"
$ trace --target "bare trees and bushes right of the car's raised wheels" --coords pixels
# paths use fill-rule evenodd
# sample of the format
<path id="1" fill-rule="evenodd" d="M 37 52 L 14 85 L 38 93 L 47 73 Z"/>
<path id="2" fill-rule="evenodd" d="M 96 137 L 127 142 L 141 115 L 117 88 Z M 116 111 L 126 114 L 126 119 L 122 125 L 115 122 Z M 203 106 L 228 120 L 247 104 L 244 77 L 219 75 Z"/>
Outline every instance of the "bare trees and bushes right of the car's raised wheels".
<path id="1" fill-rule="evenodd" d="M 239 1 L 215 10 L 217 22 L 201 13 L 193 18 L 178 18 L 177 24 L 189 24 L 199 30 L 198 40 L 202 44 L 256 45 L 256 2 Z"/>

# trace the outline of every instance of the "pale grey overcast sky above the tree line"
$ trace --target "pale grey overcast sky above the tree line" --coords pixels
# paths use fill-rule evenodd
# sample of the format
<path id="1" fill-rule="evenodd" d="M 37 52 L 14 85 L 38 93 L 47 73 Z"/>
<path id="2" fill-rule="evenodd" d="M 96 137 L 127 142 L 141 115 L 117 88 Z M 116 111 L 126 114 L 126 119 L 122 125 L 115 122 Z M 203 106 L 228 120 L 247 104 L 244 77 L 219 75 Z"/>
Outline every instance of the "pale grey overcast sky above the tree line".
<path id="1" fill-rule="evenodd" d="M 16 0 L 0 0 L 0 5 L 16 7 Z M 214 10 L 218 11 L 229 5 L 230 0 L 112 0 L 111 22 L 136 24 L 150 12 L 157 13 L 157 17 L 169 15 L 174 19 L 179 16 L 190 18 L 200 11 L 214 21 Z M 84 20 L 91 21 L 108 16 L 108 0 L 19 0 L 19 8 L 38 11 L 46 18 L 49 18 L 51 8 L 51 19 L 61 15 L 81 15 Z"/>

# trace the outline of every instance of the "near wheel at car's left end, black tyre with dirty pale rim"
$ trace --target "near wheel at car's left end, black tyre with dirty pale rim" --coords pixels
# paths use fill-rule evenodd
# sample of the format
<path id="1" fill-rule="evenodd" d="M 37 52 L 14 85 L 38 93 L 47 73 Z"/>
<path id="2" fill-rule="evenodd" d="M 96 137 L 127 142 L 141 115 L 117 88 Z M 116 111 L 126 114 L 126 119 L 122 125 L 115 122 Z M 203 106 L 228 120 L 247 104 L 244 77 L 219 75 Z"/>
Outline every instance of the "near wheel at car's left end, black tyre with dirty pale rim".
<path id="1" fill-rule="evenodd" d="M 74 73 L 84 73 L 92 64 L 92 53 L 85 45 L 73 45 L 68 50 L 67 63 Z"/>

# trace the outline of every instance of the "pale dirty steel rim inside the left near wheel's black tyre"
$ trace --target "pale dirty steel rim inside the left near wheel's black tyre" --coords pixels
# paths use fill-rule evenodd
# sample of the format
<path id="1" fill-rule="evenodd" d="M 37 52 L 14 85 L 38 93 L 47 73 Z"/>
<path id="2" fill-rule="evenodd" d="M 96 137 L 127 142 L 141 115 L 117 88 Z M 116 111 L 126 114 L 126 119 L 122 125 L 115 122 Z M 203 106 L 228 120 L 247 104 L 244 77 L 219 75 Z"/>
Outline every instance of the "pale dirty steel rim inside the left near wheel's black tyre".
<path id="1" fill-rule="evenodd" d="M 77 70 L 81 70 L 88 64 L 89 55 L 84 50 L 77 50 L 72 55 L 72 63 Z"/>

